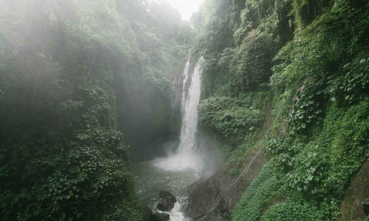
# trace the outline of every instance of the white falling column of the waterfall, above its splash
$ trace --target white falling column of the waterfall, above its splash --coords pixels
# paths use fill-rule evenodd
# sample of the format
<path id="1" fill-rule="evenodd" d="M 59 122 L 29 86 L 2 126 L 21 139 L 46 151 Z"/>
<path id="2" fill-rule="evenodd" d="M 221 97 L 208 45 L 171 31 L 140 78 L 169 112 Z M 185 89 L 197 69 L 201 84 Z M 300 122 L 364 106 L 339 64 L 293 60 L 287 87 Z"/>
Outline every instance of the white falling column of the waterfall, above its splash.
<path id="1" fill-rule="evenodd" d="M 191 56 L 191 53 L 190 53 Z M 199 62 L 200 63 L 200 62 Z M 183 71 L 183 92 L 182 92 L 182 128 L 178 151 L 181 154 L 195 151 L 197 124 L 199 116 L 197 106 L 200 102 L 200 64 L 197 63 L 191 78 L 191 84 L 186 90 L 187 80 L 189 78 L 190 58 Z"/>

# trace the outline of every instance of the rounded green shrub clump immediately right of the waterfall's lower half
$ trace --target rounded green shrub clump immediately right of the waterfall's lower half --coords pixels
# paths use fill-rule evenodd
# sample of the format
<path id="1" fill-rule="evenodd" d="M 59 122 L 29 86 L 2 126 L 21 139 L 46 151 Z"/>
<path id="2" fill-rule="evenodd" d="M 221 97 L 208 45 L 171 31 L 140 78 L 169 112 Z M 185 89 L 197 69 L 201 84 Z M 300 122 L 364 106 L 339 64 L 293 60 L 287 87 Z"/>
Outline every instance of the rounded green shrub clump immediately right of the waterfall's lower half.
<path id="1" fill-rule="evenodd" d="M 231 144 L 238 144 L 261 122 L 260 111 L 250 107 L 251 98 L 211 97 L 199 105 L 199 122 L 215 129 Z"/>

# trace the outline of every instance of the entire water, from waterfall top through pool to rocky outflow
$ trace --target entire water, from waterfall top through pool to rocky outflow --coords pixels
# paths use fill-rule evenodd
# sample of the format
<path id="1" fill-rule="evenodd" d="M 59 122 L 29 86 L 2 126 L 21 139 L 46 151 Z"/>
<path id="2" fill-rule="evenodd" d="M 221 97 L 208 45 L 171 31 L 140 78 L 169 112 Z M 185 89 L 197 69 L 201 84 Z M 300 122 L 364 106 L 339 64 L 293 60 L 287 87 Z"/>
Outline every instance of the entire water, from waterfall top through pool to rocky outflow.
<path id="1" fill-rule="evenodd" d="M 204 168 L 204 159 L 196 151 L 196 133 L 198 124 L 197 106 L 200 101 L 200 64 L 193 73 L 189 72 L 190 58 L 183 70 L 182 92 L 182 128 L 178 151 L 166 158 L 156 158 L 149 162 L 133 165 L 136 191 L 140 200 L 148 204 L 153 212 L 160 201 L 160 190 L 172 192 L 178 202 L 168 213 L 171 221 L 190 221 L 181 212 L 186 196 L 184 189 L 200 178 Z M 191 79 L 189 88 L 187 85 Z"/>

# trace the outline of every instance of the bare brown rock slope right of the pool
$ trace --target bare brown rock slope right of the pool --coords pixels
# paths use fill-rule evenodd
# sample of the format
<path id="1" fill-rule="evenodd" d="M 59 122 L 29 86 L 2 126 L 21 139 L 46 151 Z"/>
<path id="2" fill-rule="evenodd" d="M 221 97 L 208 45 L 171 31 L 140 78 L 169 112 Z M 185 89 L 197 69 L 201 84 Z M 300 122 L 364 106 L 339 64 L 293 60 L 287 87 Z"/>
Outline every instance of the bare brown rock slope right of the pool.
<path id="1" fill-rule="evenodd" d="M 204 216 L 201 221 L 227 220 L 242 194 L 268 160 L 262 147 L 245 161 L 237 177 L 231 177 L 221 170 L 210 178 L 200 178 L 188 189 L 190 196 L 185 213 L 195 220 Z"/>

